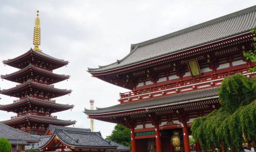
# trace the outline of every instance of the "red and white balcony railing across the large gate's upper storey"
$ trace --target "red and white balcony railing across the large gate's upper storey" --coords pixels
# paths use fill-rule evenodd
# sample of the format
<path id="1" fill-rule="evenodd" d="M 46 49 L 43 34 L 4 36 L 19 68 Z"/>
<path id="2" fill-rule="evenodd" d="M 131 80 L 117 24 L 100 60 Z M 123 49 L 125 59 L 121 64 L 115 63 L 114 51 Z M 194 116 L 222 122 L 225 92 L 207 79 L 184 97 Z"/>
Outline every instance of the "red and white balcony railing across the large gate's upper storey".
<path id="1" fill-rule="evenodd" d="M 222 80 L 227 76 L 235 73 L 242 73 L 247 77 L 255 76 L 255 72 L 247 73 L 247 70 L 234 70 L 232 72 L 222 72 L 214 74 L 214 76 L 205 76 L 193 80 L 181 80 L 179 82 L 173 82 L 170 84 L 164 84 L 162 86 L 155 86 L 151 88 L 133 90 L 130 92 L 120 93 L 119 102 L 133 102 L 138 100 L 146 100 L 149 98 L 156 98 L 160 96 L 167 96 L 170 94 L 178 94 L 179 92 L 189 92 L 193 90 L 199 90 L 203 88 L 211 88 L 214 86 L 220 86 Z"/>

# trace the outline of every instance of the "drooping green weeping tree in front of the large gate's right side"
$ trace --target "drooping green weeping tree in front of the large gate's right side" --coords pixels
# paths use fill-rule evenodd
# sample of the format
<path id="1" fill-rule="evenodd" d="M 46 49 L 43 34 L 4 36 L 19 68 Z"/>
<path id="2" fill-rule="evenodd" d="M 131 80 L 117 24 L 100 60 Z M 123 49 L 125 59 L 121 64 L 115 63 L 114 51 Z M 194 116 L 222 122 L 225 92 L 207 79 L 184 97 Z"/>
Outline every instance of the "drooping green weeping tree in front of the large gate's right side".
<path id="1" fill-rule="evenodd" d="M 241 149 L 245 140 L 256 140 L 255 84 L 255 78 L 242 74 L 223 80 L 218 92 L 222 107 L 195 119 L 191 126 L 203 149 L 220 149 L 221 145 Z"/>

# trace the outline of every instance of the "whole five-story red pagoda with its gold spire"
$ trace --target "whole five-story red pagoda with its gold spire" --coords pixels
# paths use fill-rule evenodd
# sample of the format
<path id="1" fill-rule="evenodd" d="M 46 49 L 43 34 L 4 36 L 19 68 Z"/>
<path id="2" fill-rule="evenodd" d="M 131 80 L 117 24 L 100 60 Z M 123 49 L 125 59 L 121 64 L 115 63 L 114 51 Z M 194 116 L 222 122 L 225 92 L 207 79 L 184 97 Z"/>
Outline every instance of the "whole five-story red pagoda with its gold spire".
<path id="1" fill-rule="evenodd" d="M 68 75 L 55 74 L 53 70 L 68 64 L 42 53 L 40 46 L 40 19 L 37 17 L 34 27 L 34 49 L 17 58 L 4 60 L 3 64 L 18 68 L 17 72 L 1 75 L 2 79 L 19 83 L 13 88 L 0 90 L 1 94 L 19 98 L 12 104 L 0 105 L 0 110 L 15 112 L 17 116 L 3 121 L 16 129 L 32 135 L 42 135 L 49 124 L 67 126 L 75 121 L 64 121 L 52 116 L 53 112 L 60 112 L 73 108 L 69 104 L 57 104 L 52 98 L 71 93 L 71 90 L 55 88 L 53 84 L 67 80 Z"/>

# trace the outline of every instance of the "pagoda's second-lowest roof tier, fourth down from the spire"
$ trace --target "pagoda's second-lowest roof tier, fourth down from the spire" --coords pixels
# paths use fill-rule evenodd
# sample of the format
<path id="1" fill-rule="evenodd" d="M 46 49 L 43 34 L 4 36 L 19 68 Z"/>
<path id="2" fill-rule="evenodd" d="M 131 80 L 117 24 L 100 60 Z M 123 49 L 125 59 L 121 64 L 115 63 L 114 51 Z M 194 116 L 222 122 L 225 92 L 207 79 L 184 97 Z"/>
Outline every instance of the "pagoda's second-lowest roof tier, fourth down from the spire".
<path id="1" fill-rule="evenodd" d="M 73 108 L 73 105 L 58 104 L 58 103 L 51 102 L 51 101 L 45 101 L 45 100 L 40 100 L 40 99 L 36 99 L 36 98 L 30 98 L 28 96 L 26 98 L 22 98 L 22 100 L 18 100 L 16 102 L 11 103 L 11 104 L 5 104 L 5 105 L 0 104 L 0 110 L 8 110 L 8 109 L 12 109 L 12 108 L 15 108 L 15 107 L 23 106 L 24 104 L 37 104 L 37 105 L 59 108 L 60 110 L 62 110 L 62 109 L 67 110 L 67 109 Z"/>

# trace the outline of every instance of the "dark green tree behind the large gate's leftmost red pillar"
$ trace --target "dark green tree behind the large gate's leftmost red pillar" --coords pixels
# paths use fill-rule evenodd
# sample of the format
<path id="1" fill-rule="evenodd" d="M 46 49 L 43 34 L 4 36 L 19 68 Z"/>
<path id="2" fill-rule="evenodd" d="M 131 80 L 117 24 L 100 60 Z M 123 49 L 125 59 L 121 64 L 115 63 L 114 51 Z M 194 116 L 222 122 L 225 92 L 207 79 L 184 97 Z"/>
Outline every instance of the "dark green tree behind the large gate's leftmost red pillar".
<path id="1" fill-rule="evenodd" d="M 131 147 L 131 131 L 123 125 L 116 125 L 110 136 L 106 139 Z"/>

